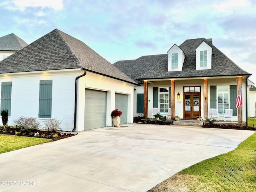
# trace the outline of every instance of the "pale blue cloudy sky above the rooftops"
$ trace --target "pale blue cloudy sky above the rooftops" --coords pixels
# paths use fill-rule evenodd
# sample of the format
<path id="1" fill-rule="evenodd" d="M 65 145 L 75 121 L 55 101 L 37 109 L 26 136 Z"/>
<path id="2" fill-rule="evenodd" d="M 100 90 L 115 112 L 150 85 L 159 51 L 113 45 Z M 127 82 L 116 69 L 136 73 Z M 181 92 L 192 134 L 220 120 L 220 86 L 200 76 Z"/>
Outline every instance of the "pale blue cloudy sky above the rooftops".
<path id="1" fill-rule="evenodd" d="M 0 18 L 0 37 L 30 44 L 57 28 L 110 63 L 212 38 L 256 86 L 255 0 L 0 0 Z"/>

